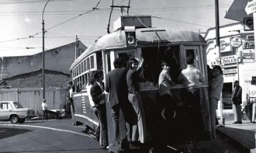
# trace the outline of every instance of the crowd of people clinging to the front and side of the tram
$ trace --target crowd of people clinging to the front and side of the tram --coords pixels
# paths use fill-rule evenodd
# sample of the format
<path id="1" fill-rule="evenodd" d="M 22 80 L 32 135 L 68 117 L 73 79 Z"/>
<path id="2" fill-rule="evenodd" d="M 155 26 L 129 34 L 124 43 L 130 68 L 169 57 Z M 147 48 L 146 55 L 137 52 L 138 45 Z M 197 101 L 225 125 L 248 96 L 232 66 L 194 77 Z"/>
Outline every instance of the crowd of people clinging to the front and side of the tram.
<path id="1" fill-rule="evenodd" d="M 190 132 L 197 130 L 200 126 L 202 127 L 202 125 L 198 126 L 198 123 L 202 123 L 199 85 L 205 84 L 202 73 L 199 69 L 195 68 L 194 60 L 192 56 L 186 58 L 188 66 L 180 72 L 177 78 L 177 84 L 186 85 L 184 97 L 186 97 L 189 107 L 193 108 L 191 120 L 195 122 L 191 122 L 192 128 L 188 128 Z M 89 85 L 86 85 L 86 87 L 89 99 L 92 101 L 91 105 L 95 108 L 95 114 L 97 114 L 100 122 L 100 145 L 105 149 L 109 145 L 116 145 L 121 147 L 121 151 L 125 151 L 129 149 L 128 145 L 131 143 L 133 145 L 142 144 L 142 146 L 143 144 L 144 146 L 151 144 L 152 149 L 150 149 L 150 152 L 166 152 L 167 150 L 170 128 L 172 128 L 175 118 L 179 116 L 179 110 L 176 110 L 175 99 L 170 88 L 171 85 L 176 83 L 173 82 L 170 75 L 170 63 L 166 61 L 161 62 L 162 71 L 159 74 L 158 80 L 157 105 L 154 110 L 154 119 L 152 119 L 152 122 L 157 126 L 150 129 L 151 127 L 149 128 L 145 115 L 145 106 L 143 106 L 140 95 L 139 82 L 142 79 L 140 73 L 143 63 L 143 58 L 141 58 L 140 62 L 135 58 L 131 58 L 128 61 L 129 68 L 127 69 L 123 59 L 115 59 L 113 62 L 115 69 L 109 71 L 106 75 L 105 84 L 102 82 L 102 71 L 101 73 L 100 71 L 90 73 Z M 223 87 L 223 76 L 220 66 L 215 66 L 212 69 L 212 76 L 210 78 L 209 109 L 212 125 L 211 139 L 214 139 L 216 138 L 216 108 Z M 70 91 L 72 91 L 72 87 L 70 85 Z M 111 144 L 108 142 L 104 91 L 109 93 L 108 101 L 111 105 L 113 120 L 114 143 Z M 74 105 L 71 103 L 70 106 Z"/>

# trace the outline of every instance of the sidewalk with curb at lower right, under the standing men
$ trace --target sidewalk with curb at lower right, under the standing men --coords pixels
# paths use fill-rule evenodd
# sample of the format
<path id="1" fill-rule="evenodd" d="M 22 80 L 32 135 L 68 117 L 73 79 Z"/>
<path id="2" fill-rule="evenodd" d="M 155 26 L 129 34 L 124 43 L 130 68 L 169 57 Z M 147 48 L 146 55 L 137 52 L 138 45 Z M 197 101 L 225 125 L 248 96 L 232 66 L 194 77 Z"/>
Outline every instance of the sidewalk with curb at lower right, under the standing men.
<path id="1" fill-rule="evenodd" d="M 249 119 L 242 120 L 243 124 L 232 124 L 234 122 L 232 110 L 223 110 L 223 117 L 225 117 L 225 127 L 218 127 L 216 131 L 227 136 L 232 142 L 248 150 L 248 152 L 256 152 L 256 124 L 252 124 Z"/>

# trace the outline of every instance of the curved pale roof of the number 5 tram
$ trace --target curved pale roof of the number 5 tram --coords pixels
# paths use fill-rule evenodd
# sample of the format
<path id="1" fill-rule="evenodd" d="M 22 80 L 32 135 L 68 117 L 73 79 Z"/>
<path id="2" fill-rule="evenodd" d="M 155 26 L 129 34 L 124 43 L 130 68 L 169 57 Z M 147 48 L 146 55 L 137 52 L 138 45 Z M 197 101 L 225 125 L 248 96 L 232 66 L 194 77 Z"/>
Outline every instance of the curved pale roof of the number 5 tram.
<path id="1" fill-rule="evenodd" d="M 141 28 L 136 29 L 137 46 L 142 45 L 172 45 L 178 43 L 205 43 L 203 36 L 193 31 L 182 31 L 177 29 Z M 157 33 L 157 34 L 156 34 Z M 99 38 L 92 46 L 88 47 L 71 65 L 70 70 L 76 66 L 81 59 L 98 50 L 109 50 L 127 47 L 125 31 L 115 31 Z"/>

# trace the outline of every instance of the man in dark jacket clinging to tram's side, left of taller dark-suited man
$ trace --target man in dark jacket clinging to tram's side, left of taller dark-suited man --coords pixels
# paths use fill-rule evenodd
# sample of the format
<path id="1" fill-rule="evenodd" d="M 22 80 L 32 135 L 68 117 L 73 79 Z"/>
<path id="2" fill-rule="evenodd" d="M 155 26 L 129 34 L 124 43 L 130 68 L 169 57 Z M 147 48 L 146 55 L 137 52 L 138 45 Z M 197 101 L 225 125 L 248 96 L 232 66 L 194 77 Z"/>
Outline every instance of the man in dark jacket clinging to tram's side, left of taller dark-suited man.
<path id="1" fill-rule="evenodd" d="M 97 81 L 96 81 L 97 80 Z M 102 94 L 102 89 L 100 88 L 100 83 L 98 81 L 99 78 L 90 77 L 89 81 L 92 84 L 90 94 L 92 96 L 92 100 L 95 103 L 95 107 L 97 108 L 97 114 L 100 120 L 100 145 L 106 149 L 108 147 L 108 124 L 107 124 L 107 116 L 106 116 L 106 103 L 104 101 L 105 94 Z M 102 102 L 103 100 L 103 102 Z"/>

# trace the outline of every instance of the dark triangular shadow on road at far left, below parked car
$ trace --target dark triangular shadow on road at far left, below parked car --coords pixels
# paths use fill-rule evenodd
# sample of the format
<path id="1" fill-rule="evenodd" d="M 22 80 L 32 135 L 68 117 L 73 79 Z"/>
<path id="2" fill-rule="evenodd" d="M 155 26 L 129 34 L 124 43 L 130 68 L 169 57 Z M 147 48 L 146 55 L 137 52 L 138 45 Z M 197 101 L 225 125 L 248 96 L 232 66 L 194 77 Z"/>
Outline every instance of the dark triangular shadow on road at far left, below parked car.
<path id="1" fill-rule="evenodd" d="M 0 128 L 0 139 L 31 132 L 28 129 Z"/>

